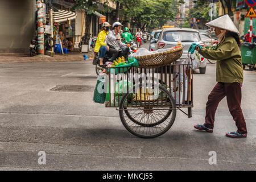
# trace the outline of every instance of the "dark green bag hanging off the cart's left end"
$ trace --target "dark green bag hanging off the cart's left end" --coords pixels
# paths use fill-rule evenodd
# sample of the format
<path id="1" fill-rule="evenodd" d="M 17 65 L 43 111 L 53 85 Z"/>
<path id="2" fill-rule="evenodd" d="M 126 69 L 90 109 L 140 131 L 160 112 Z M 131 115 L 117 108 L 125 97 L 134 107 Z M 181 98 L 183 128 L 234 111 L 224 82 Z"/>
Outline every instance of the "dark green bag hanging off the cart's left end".
<path id="1" fill-rule="evenodd" d="M 106 98 L 106 94 L 104 92 L 104 85 L 105 85 L 105 74 L 103 74 L 102 76 L 99 75 L 97 78 L 97 84 L 93 94 L 94 102 L 104 104 L 105 98 Z"/>

